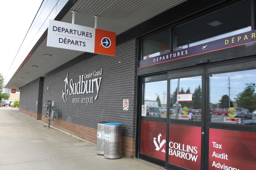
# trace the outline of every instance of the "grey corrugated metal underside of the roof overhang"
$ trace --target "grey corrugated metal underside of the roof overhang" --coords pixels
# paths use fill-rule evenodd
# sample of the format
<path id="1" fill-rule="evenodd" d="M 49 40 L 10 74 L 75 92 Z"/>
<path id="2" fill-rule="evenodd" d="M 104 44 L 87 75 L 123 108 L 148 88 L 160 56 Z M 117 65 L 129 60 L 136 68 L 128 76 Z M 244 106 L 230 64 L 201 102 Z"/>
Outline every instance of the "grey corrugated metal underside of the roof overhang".
<path id="1" fill-rule="evenodd" d="M 76 11 L 75 24 L 94 27 L 94 15 L 99 16 L 97 28 L 121 34 L 128 29 L 160 14 L 186 0 L 79 0 L 70 10 Z M 68 12 L 62 22 L 72 23 L 72 12 Z M 153 24 L 153 23 L 152 23 Z M 45 73 L 67 63 L 83 52 L 47 47 L 47 38 L 40 44 L 19 72 L 10 80 L 8 87 L 17 87 L 35 80 Z M 44 54 L 52 54 L 45 58 Z M 33 65 L 38 68 L 32 68 Z M 25 72 L 30 73 L 26 75 Z M 20 79 L 19 77 L 24 77 Z M 16 82 L 20 80 L 20 82 Z"/>

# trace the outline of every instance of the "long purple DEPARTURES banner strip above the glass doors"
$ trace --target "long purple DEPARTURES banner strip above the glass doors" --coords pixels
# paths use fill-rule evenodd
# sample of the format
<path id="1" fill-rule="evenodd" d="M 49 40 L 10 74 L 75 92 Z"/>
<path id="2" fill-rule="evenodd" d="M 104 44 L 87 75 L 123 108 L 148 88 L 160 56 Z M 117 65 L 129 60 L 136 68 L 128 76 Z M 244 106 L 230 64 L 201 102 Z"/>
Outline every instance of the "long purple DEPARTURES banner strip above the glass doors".
<path id="1" fill-rule="evenodd" d="M 256 42 L 256 30 L 138 61 L 138 68 Z"/>

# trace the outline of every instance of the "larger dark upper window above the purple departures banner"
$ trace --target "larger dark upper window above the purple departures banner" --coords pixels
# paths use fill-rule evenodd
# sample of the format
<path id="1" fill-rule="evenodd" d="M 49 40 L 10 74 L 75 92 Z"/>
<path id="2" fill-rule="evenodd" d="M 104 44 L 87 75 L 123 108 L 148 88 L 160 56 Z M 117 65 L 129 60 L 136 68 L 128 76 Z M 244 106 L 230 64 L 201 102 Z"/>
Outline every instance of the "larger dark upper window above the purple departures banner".
<path id="1" fill-rule="evenodd" d="M 251 31 L 250 0 L 218 10 L 174 28 L 174 50 Z"/>

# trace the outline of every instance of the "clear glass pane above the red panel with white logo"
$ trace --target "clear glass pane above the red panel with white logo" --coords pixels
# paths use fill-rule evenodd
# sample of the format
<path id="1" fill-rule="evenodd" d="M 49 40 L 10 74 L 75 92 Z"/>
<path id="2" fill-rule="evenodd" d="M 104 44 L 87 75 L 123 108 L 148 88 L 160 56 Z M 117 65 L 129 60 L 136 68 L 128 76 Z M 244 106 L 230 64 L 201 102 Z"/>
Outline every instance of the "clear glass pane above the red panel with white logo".
<path id="1" fill-rule="evenodd" d="M 167 104 L 167 81 L 144 83 L 144 101 L 147 105 L 146 116 L 165 117 Z"/>

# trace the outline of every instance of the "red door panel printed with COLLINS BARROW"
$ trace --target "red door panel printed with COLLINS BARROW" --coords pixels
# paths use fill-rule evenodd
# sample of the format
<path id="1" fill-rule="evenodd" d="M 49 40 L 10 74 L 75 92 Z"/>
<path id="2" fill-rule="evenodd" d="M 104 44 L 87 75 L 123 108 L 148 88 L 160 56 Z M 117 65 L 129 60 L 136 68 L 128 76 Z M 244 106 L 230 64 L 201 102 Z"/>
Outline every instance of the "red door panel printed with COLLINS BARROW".
<path id="1" fill-rule="evenodd" d="M 170 124 L 168 163 L 201 169 L 201 127 Z"/>

